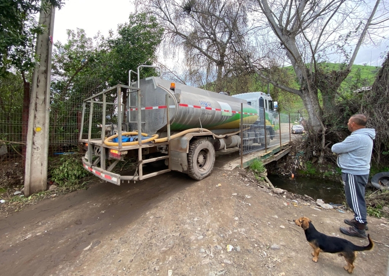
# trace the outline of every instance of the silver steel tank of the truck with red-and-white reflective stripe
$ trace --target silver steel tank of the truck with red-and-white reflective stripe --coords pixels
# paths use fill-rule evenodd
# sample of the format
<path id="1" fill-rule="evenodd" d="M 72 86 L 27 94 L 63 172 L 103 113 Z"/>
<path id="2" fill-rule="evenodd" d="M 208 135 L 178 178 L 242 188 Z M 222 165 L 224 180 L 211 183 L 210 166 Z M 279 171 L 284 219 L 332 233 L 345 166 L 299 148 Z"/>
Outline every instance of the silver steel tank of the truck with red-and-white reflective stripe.
<path id="1" fill-rule="evenodd" d="M 135 83 L 133 86 L 137 87 Z M 154 134 L 165 131 L 167 125 L 166 94 L 169 94 L 169 116 L 171 131 L 182 131 L 191 128 L 209 130 L 239 129 L 241 103 L 243 103 L 245 123 L 254 123 L 258 114 L 255 108 L 244 99 L 238 99 L 200 88 L 175 84 L 158 77 L 147 77 L 140 80 L 142 132 Z M 137 129 L 137 93 L 130 93 L 127 101 L 129 127 Z M 228 132 L 228 131 L 227 131 Z"/>

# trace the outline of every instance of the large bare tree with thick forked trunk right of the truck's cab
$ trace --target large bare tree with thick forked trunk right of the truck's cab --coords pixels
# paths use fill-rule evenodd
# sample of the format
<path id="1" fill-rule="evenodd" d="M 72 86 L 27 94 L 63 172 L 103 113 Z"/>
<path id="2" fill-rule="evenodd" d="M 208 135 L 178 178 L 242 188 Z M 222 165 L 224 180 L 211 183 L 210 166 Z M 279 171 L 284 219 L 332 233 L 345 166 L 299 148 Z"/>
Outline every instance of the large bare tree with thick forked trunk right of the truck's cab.
<path id="1" fill-rule="evenodd" d="M 237 49 L 242 52 L 242 58 L 250 68 L 274 86 L 301 97 L 309 116 L 308 126 L 314 132 L 321 129 L 322 151 L 319 163 L 322 163 L 323 152 L 328 145 L 325 144 L 326 127 L 323 124 L 319 92 L 322 93 L 324 106 L 331 103 L 328 99 L 335 98 L 340 84 L 351 71 L 362 43 L 372 40 L 375 35 L 380 38 L 379 33 L 387 28 L 385 22 L 389 19 L 388 12 L 384 5 L 380 6 L 380 0 L 376 1 L 374 7 L 359 0 L 352 5 L 345 0 L 287 0 L 284 3 L 279 0 L 254 0 L 251 3 L 252 11 L 258 14 L 255 17 L 257 25 L 261 26 L 262 31 L 267 30 L 264 32 L 266 37 L 262 36 L 266 38 L 262 40 L 266 44 L 262 46 L 274 47 L 278 43 L 276 50 L 281 48 L 292 64 L 299 89 L 267 77 L 252 62 L 251 52 L 247 49 L 252 38 L 246 38 L 225 20 L 224 24 L 234 32 Z M 212 16 L 206 11 L 195 12 Z M 223 20 L 218 15 L 213 16 Z M 256 34 L 262 35 L 263 32 Z M 340 56 L 344 66 L 331 72 L 323 70 L 320 65 L 329 58 L 328 52 Z"/>

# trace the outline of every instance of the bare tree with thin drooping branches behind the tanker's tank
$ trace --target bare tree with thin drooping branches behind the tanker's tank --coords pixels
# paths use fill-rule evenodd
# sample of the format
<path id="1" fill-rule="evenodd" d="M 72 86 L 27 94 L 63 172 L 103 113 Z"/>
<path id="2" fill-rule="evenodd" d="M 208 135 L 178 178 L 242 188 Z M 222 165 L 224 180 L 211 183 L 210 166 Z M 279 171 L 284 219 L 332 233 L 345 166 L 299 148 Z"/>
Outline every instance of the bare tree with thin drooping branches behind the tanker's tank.
<path id="1" fill-rule="evenodd" d="M 225 0 L 149 0 L 139 4 L 144 10 L 151 11 L 164 26 L 169 53 L 179 55 L 174 49 L 182 47 L 191 81 L 212 82 L 209 75 L 214 74 L 215 91 L 222 91 L 223 77 L 234 71 L 239 63 L 231 38 L 232 30 L 247 29 L 244 7 Z M 206 13 L 192 12 L 198 10 Z"/>

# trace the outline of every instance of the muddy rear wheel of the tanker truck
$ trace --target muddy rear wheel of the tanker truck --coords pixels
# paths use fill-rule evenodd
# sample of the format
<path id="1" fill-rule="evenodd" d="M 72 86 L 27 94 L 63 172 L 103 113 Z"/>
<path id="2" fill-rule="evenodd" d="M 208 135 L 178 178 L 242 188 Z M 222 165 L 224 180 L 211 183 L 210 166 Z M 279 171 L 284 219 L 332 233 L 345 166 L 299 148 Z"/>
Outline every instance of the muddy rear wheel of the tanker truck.
<path id="1" fill-rule="evenodd" d="M 189 176 L 196 180 L 206 178 L 215 164 L 215 149 L 207 139 L 190 143 L 188 152 Z"/>

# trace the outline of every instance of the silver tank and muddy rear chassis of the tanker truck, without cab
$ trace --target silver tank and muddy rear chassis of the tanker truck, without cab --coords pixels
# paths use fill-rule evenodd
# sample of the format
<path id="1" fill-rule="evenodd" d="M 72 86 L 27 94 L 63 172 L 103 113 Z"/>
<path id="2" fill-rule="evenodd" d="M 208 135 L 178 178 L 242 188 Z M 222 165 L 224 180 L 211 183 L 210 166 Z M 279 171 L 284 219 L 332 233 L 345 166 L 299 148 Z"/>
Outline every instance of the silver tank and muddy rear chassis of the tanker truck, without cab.
<path id="1" fill-rule="evenodd" d="M 87 147 L 82 157 L 84 168 L 117 185 L 121 181 L 142 180 L 169 171 L 201 180 L 214 167 L 215 151 L 240 146 L 241 116 L 245 124 L 254 124 L 258 118 L 257 109 L 245 99 L 171 83 L 159 77 L 142 80 L 138 77 L 132 85 L 116 85 L 83 103 L 81 129 L 89 108 L 88 138 L 80 133 L 80 142 Z M 117 97 L 109 103 L 106 96 L 112 93 L 117 93 Z M 126 98 L 127 110 L 124 110 L 122 99 Z M 115 123 L 105 122 L 109 117 L 106 114 L 108 104 L 119 107 Z M 96 117 L 93 108 L 97 105 L 102 105 L 101 124 L 97 126 L 101 136 L 95 138 L 92 137 L 92 128 L 96 128 L 92 126 Z M 132 175 L 114 171 L 119 162 L 131 159 L 135 164 Z M 145 164 L 151 166 L 143 168 Z"/>

